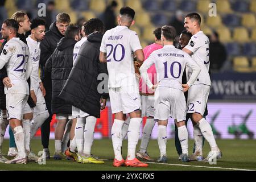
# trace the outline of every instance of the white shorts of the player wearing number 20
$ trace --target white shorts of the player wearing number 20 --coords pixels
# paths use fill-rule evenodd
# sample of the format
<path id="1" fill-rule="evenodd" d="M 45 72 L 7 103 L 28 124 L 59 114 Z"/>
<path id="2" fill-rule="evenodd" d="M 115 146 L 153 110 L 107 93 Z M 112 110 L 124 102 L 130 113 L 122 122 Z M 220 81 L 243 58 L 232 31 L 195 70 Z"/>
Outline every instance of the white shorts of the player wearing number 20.
<path id="1" fill-rule="evenodd" d="M 127 114 L 141 110 L 138 85 L 109 88 L 109 98 L 113 114 L 121 111 L 123 114 Z"/>

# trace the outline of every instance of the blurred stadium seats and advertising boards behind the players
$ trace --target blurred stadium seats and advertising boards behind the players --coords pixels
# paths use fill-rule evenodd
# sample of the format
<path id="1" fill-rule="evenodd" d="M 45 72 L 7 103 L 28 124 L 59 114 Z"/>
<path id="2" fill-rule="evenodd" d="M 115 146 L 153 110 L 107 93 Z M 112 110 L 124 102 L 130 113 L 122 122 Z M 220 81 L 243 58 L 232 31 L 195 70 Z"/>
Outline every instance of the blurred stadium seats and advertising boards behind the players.
<path id="1" fill-rule="evenodd" d="M 202 18 L 201 27 L 205 34 L 209 35 L 210 39 L 213 35 L 218 35 L 226 52 L 225 55 L 225 53 L 219 53 L 218 49 L 217 52 L 216 49 L 210 49 L 210 57 L 212 55 L 213 59 L 210 62 L 212 88 L 208 102 L 208 121 L 213 127 L 216 138 L 256 139 L 256 0 L 115 1 L 118 5 L 115 9 L 116 13 L 125 5 L 136 11 L 136 23 L 131 29 L 139 35 L 142 47 L 154 40 L 152 32 L 155 27 L 164 24 L 180 27 L 185 14 L 192 11 L 199 13 Z M 4 19 L 9 18 L 17 10 L 26 11 L 30 19 L 33 19 L 38 16 L 39 3 L 45 3 L 48 8 L 49 2 L 51 1 L 1 1 L 0 23 L 2 24 Z M 46 14 L 48 19 L 54 22 L 56 14 L 64 11 L 71 16 L 72 23 L 76 23 L 82 18 L 84 18 L 82 20 L 104 18 L 104 11 L 112 0 L 55 0 L 52 2 L 53 6 L 47 10 L 47 13 L 49 11 L 51 13 Z M 209 11 L 212 9 L 209 7 L 210 3 L 215 3 L 217 16 L 209 16 Z M 96 138 L 110 138 L 112 122 L 113 115 L 108 103 L 108 107 L 102 111 L 101 118 L 97 121 Z M 51 138 L 54 137 L 55 123 L 53 118 Z M 172 138 L 174 136 L 172 119 L 168 126 L 168 137 Z M 157 137 L 156 127 L 152 138 Z M 189 137 L 192 138 L 190 123 L 188 129 Z M 40 131 L 37 133 L 37 136 L 39 135 Z"/>

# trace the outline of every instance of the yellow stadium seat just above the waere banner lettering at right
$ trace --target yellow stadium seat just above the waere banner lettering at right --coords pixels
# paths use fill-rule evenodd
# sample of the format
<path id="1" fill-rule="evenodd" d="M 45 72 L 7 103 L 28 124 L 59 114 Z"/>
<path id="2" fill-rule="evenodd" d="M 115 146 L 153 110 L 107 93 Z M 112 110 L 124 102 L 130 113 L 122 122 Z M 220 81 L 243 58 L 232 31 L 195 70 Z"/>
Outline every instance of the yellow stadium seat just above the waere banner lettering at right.
<path id="1" fill-rule="evenodd" d="M 233 69 L 237 72 L 251 72 L 249 60 L 245 56 L 234 57 Z"/>

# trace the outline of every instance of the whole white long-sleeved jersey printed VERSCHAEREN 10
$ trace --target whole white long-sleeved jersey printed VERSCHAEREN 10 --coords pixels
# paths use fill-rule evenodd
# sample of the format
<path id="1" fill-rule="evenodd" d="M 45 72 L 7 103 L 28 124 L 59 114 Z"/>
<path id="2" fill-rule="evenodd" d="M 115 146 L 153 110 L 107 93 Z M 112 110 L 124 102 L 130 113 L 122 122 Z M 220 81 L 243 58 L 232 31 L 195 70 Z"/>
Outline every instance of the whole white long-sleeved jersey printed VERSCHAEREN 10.
<path id="1" fill-rule="evenodd" d="M 192 77 L 188 81 L 189 86 L 195 82 L 196 77 L 200 73 L 199 66 L 191 59 L 188 53 L 172 45 L 166 45 L 152 52 L 139 69 L 143 80 L 146 81 L 149 88 L 152 88 L 153 85 L 148 78 L 147 69 L 153 64 L 155 64 L 159 86 L 168 88 L 183 90 L 182 75 L 186 66 L 193 70 Z"/>

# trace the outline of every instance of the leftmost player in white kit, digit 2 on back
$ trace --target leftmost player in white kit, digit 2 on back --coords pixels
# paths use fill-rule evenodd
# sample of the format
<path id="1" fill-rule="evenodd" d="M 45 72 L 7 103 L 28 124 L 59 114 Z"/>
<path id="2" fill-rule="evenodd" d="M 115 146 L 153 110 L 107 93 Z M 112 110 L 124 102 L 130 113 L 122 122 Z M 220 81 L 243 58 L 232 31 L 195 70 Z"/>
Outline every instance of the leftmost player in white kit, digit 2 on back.
<path id="1" fill-rule="evenodd" d="M 32 65 L 27 45 L 16 38 L 18 28 L 16 20 L 6 19 L 1 30 L 2 37 L 7 39 L 7 43 L 0 56 L 0 69 L 6 65 L 7 76 L 12 85 L 10 88 L 5 87 L 6 110 L 18 148 L 18 156 L 7 160 L 6 164 L 27 163 L 22 118 L 23 108 L 30 92 L 27 79 L 32 72 Z"/>

